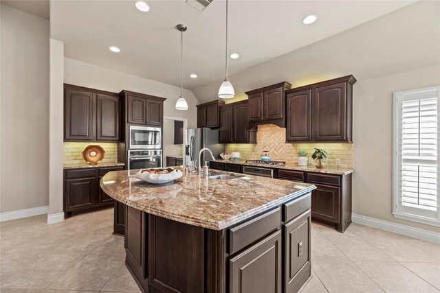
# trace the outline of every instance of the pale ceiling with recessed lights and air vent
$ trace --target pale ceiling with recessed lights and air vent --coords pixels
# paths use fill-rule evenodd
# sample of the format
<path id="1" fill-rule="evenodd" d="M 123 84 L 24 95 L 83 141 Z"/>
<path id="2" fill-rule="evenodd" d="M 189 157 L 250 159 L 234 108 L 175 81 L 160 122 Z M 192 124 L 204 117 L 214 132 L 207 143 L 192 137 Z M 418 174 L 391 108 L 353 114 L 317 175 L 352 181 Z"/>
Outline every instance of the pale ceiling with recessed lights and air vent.
<path id="1" fill-rule="evenodd" d="M 338 34 L 414 1 L 229 2 L 229 73 Z M 51 37 L 65 43 L 65 56 L 180 86 L 180 32 L 184 23 L 184 87 L 195 89 L 224 77 L 225 1 L 203 12 L 184 0 L 151 1 L 140 12 L 134 1 L 51 1 Z M 302 19 L 317 14 L 318 21 Z M 109 46 L 121 49 L 109 51 Z M 198 78 L 192 79 L 190 73 Z"/>

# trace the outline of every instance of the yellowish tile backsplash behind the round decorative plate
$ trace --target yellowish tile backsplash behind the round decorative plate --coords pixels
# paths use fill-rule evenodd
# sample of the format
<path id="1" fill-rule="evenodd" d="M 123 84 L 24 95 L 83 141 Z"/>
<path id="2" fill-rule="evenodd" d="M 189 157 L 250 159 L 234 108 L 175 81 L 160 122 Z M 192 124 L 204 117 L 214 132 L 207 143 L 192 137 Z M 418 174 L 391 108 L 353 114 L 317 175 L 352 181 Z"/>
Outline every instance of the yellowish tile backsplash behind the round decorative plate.
<path id="1" fill-rule="evenodd" d="M 83 159 L 83 150 L 87 145 L 100 145 L 104 151 L 104 159 L 102 163 L 118 162 L 118 143 L 76 143 L 68 142 L 63 145 L 63 163 L 64 164 L 80 164 L 85 163 Z"/>

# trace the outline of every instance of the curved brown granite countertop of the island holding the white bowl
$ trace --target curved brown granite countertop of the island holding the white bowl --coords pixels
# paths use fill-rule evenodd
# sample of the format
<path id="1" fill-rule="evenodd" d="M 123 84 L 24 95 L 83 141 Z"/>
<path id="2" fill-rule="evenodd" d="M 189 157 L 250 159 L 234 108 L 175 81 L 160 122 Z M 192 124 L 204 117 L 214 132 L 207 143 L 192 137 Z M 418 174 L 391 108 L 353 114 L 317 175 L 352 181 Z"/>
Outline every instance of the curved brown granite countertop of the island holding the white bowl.
<path id="1" fill-rule="evenodd" d="M 218 180 L 193 173 L 171 183 L 153 185 L 127 176 L 126 171 L 115 171 L 102 177 L 100 186 L 129 207 L 213 230 L 232 226 L 316 188 L 306 183 L 234 175 L 241 178 Z"/>

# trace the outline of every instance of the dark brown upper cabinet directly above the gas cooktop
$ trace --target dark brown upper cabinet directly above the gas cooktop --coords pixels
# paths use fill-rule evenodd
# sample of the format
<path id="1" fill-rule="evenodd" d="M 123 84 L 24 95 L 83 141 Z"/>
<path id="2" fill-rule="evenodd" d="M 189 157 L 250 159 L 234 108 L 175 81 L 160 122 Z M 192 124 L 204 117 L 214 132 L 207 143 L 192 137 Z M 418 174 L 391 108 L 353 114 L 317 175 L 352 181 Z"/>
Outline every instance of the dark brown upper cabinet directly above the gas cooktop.
<path id="1" fill-rule="evenodd" d="M 292 84 L 289 84 L 289 82 L 280 82 L 247 91 L 249 128 L 254 128 L 259 124 L 275 124 L 284 127 L 284 93 L 291 87 Z"/>

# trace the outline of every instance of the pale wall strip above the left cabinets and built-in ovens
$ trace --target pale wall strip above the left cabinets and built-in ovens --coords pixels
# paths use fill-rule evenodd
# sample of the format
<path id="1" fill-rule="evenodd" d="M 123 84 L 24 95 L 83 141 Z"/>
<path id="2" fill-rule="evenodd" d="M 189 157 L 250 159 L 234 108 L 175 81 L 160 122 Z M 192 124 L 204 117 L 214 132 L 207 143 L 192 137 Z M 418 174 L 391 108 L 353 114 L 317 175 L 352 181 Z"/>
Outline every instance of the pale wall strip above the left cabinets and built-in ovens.
<path id="1" fill-rule="evenodd" d="M 188 119 L 188 128 L 197 127 L 197 109 L 199 104 L 192 91 L 184 89 L 184 97 L 188 102 L 188 110 L 176 110 L 175 104 L 180 95 L 180 88 L 155 80 L 122 73 L 89 63 L 64 58 L 64 82 L 93 89 L 119 93 L 123 89 L 165 97 L 164 115 L 168 117 Z"/>

